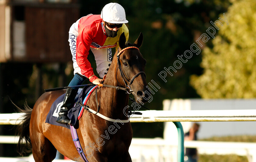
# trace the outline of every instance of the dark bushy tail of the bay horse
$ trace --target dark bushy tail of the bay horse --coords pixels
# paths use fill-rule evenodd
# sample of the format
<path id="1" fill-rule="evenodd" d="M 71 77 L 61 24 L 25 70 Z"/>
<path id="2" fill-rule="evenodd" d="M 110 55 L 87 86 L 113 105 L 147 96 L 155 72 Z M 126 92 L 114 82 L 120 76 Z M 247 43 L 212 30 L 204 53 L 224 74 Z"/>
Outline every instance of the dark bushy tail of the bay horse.
<path id="1" fill-rule="evenodd" d="M 30 118 L 31 118 L 31 113 L 33 109 L 31 109 L 27 105 L 27 102 L 24 104 L 24 109 L 21 109 L 18 106 L 16 107 L 19 113 L 24 113 L 24 115 L 21 116 L 22 118 L 21 124 L 17 127 L 17 130 L 16 130 L 17 135 L 20 136 L 20 139 L 17 144 L 17 152 L 21 156 L 23 156 L 25 155 L 25 153 L 29 153 L 32 150 L 32 145 L 31 145 L 31 140 L 29 135 L 29 124 L 30 124 Z"/>

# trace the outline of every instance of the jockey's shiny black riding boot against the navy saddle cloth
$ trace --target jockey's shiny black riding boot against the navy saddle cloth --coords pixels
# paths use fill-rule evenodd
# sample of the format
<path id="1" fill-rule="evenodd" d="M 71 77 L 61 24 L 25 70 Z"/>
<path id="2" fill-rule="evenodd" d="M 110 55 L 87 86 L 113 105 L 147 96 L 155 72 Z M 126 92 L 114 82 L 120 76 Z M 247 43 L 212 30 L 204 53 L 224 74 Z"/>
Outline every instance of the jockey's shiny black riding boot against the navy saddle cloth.
<path id="1" fill-rule="evenodd" d="M 68 88 L 63 100 L 63 105 L 58 113 L 56 122 L 61 124 L 70 124 L 70 119 L 67 117 L 68 111 L 71 109 L 74 99 L 76 97 L 77 90 Z"/>

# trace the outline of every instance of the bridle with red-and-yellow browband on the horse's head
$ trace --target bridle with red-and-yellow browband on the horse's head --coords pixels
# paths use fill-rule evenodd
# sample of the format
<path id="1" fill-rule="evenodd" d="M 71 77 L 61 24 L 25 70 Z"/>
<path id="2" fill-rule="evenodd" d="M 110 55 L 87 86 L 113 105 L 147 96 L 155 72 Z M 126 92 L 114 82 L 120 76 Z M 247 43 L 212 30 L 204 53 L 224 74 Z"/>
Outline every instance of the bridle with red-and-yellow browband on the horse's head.
<path id="1" fill-rule="evenodd" d="M 116 72 L 117 72 L 117 69 L 119 69 L 119 71 L 120 71 L 120 73 L 121 73 L 121 77 L 122 77 L 122 79 L 123 79 L 123 82 L 124 82 L 125 85 L 126 85 L 126 92 L 127 92 L 128 94 L 131 94 L 131 93 L 133 92 L 133 90 L 131 89 L 130 85 L 132 84 L 133 80 L 134 80 L 137 76 L 139 76 L 140 74 L 144 74 L 145 77 L 146 77 L 146 73 L 144 73 L 143 71 L 141 71 L 141 72 L 137 73 L 135 76 L 133 76 L 133 78 L 132 78 L 130 81 L 125 77 L 125 75 L 124 75 L 124 73 L 123 73 L 123 69 L 122 69 L 121 62 L 120 62 L 120 58 L 119 58 L 119 57 L 120 57 L 120 55 L 121 55 L 121 53 L 122 53 L 123 51 L 125 51 L 126 49 L 131 49 L 131 48 L 135 48 L 135 49 L 139 50 L 137 47 L 130 46 L 130 47 L 126 47 L 126 48 L 122 49 L 122 50 L 119 51 L 118 54 L 116 55 L 116 57 L 117 57 L 117 65 L 116 65 L 116 67 L 118 67 L 118 68 L 116 68 Z M 116 80 L 117 80 L 117 73 L 116 73 Z M 125 80 L 126 80 L 126 81 L 125 81 Z M 117 82 L 118 82 L 118 81 L 117 81 Z M 118 82 L 118 84 L 120 84 L 120 83 Z M 121 84 L 120 84 L 120 85 L 121 85 Z"/>

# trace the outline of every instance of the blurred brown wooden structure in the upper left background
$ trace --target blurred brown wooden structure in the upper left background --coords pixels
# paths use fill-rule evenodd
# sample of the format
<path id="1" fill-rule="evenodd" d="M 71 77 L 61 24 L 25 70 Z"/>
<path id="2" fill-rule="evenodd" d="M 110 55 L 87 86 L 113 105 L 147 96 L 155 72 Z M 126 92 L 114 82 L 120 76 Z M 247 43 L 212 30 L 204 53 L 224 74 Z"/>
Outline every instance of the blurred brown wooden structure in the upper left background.
<path id="1" fill-rule="evenodd" d="M 71 0 L 0 0 L 0 62 L 68 62 L 68 32 L 79 19 Z"/>

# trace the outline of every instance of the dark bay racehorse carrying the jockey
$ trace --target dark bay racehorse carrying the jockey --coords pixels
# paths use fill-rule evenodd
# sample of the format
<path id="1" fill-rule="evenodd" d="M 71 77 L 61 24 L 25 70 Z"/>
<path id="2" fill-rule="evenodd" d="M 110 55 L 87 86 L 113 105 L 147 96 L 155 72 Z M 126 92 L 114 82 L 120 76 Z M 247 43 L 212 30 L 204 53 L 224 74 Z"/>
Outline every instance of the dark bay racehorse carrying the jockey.
<path id="1" fill-rule="evenodd" d="M 147 90 L 144 73 L 146 60 L 138 50 L 142 42 L 142 33 L 134 44 L 126 43 L 124 33 L 120 35 L 119 49 L 113 56 L 104 81 L 106 85 L 125 87 L 128 93 L 133 94 L 137 103 L 148 101 L 144 97 Z M 122 51 L 125 48 L 126 50 Z M 119 51 L 122 51 L 122 53 L 119 54 Z M 128 116 L 123 113 L 123 109 L 128 105 L 129 94 L 127 92 L 115 88 L 101 87 L 97 91 L 97 101 L 95 99 L 96 91 L 94 90 L 87 101 L 87 105 L 94 111 L 99 108 L 99 113 L 109 118 L 127 120 Z M 18 152 L 21 155 L 28 150 L 32 150 L 36 162 L 50 162 L 55 158 L 56 150 L 58 150 L 71 160 L 83 161 L 82 158 L 79 158 L 70 130 L 45 123 L 52 103 L 64 93 L 64 90 L 45 92 L 36 101 L 33 109 L 28 106 L 25 106 L 23 110 L 20 109 L 20 112 L 25 113 L 19 129 L 20 139 L 17 145 Z M 126 114 L 127 110 L 125 110 Z M 79 120 L 77 134 L 81 146 L 84 148 L 84 153 L 88 153 L 85 155 L 89 162 L 132 161 L 128 152 L 133 137 L 130 121 L 128 123 L 118 123 L 115 127 L 115 133 L 113 133 L 113 130 L 115 130 L 113 125 L 111 121 L 84 111 Z M 112 133 L 108 132 L 110 127 Z M 104 141 L 100 142 L 101 146 L 99 147 L 95 143 L 97 143 L 96 140 L 99 137 L 103 137 L 102 135 L 108 138 L 103 138 Z M 22 144 L 23 140 L 25 140 L 26 145 Z M 93 155 L 91 156 L 91 154 Z"/>

